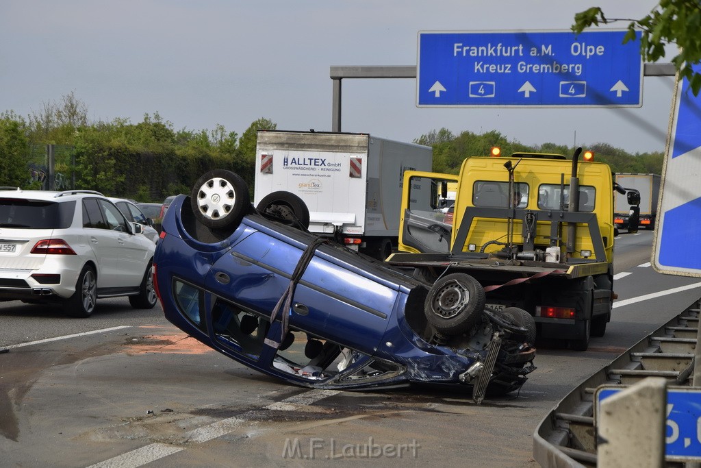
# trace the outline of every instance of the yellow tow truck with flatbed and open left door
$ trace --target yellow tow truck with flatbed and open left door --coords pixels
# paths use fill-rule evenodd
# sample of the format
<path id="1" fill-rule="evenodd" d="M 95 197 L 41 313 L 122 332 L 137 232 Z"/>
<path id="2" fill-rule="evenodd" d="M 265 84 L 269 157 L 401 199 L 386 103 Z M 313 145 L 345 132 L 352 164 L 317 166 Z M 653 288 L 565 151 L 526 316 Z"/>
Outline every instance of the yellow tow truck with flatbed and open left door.
<path id="1" fill-rule="evenodd" d="M 463 309 L 482 307 L 527 312 L 540 337 L 571 349 L 604 335 L 615 297 L 618 187 L 608 165 L 590 152 L 579 161 L 581 153 L 475 156 L 459 175 L 404 173 L 400 251 L 387 261 L 434 285 L 430 322 L 448 330 Z"/>

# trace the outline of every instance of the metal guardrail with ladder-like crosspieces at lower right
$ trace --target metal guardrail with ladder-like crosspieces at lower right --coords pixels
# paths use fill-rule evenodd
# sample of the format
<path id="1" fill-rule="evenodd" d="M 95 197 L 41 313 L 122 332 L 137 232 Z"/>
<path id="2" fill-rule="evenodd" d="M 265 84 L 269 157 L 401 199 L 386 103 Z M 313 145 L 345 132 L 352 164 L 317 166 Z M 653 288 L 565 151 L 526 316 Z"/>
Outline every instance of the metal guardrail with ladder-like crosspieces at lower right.
<path id="1" fill-rule="evenodd" d="M 536 461 L 546 468 L 597 466 L 594 392 L 599 385 L 633 385 L 646 377 L 663 377 L 668 385 L 690 386 L 700 314 L 701 299 L 565 396 L 533 433 Z"/>

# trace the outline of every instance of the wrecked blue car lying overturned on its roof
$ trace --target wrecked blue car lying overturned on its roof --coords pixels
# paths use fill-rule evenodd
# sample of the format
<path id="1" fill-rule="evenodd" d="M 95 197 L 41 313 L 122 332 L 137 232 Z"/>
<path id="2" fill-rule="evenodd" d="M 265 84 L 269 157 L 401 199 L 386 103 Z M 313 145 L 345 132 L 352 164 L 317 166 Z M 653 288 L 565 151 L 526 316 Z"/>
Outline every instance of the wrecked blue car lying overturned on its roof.
<path id="1" fill-rule="evenodd" d="M 307 387 L 519 389 L 535 323 L 485 309 L 466 274 L 431 286 L 306 230 L 299 197 L 254 208 L 245 182 L 211 171 L 163 220 L 154 275 L 166 318 L 232 359 Z"/>

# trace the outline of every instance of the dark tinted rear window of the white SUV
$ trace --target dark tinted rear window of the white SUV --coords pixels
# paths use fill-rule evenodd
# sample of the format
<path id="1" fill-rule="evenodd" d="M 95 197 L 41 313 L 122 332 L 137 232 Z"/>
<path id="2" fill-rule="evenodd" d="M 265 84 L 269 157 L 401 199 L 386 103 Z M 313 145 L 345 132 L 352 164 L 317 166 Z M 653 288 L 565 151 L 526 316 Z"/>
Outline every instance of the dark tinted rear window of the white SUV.
<path id="1" fill-rule="evenodd" d="M 76 202 L 0 199 L 0 227 L 66 229 L 70 227 Z"/>

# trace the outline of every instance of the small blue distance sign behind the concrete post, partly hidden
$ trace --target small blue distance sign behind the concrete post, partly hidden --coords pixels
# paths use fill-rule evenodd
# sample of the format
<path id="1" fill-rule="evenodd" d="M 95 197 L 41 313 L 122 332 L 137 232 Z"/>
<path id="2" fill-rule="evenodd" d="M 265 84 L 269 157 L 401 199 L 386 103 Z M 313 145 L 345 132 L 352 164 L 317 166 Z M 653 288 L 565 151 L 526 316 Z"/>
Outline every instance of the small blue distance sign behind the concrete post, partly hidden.
<path id="1" fill-rule="evenodd" d="M 622 387 L 597 388 L 599 402 L 620 392 Z M 701 461 L 701 389 L 667 387 L 665 458 L 669 461 Z"/>

